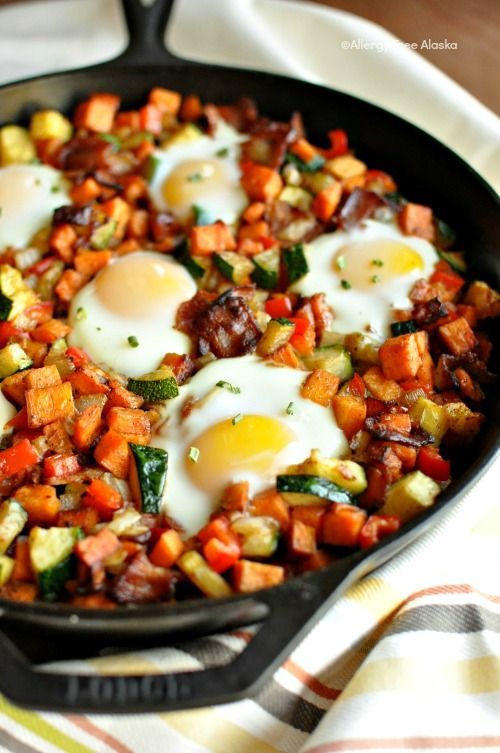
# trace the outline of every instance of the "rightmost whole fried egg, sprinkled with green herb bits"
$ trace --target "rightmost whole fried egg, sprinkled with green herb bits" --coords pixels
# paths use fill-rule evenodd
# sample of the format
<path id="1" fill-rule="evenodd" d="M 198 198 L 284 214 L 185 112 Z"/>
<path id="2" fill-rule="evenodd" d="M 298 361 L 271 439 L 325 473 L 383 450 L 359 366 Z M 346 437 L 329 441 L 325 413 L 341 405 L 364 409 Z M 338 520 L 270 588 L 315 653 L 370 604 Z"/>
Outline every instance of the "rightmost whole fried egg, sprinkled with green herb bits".
<path id="1" fill-rule="evenodd" d="M 336 332 L 370 332 L 377 340 L 390 336 L 393 310 L 411 306 L 414 283 L 431 275 L 439 261 L 428 241 L 375 220 L 322 235 L 305 254 L 309 272 L 291 290 L 303 296 L 325 293 Z"/>

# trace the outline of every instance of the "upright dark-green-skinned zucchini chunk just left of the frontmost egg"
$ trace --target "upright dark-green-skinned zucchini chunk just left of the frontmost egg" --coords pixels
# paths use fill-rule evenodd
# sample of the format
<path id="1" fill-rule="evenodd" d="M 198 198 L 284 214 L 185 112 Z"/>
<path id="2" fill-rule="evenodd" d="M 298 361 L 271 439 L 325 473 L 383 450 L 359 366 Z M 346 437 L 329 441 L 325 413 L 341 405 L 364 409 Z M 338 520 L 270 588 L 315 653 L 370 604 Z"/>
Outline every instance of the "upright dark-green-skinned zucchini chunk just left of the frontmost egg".
<path id="1" fill-rule="evenodd" d="M 142 512 L 160 512 L 167 480 L 168 454 L 158 447 L 133 444 L 133 462 L 130 464 L 130 488 L 132 496 Z"/>

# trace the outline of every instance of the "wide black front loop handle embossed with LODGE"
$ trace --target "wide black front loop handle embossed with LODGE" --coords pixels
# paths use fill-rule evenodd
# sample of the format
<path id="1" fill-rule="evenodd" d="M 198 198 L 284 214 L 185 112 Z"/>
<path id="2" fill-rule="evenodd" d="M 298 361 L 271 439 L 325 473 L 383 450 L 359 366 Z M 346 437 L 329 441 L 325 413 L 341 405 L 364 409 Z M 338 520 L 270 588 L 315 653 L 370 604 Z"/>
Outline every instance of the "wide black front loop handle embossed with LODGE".
<path id="1" fill-rule="evenodd" d="M 315 613 L 326 609 L 351 580 L 344 568 L 334 568 L 332 576 L 306 576 L 256 594 L 269 609 L 257 635 L 230 664 L 201 671 L 108 676 L 44 672 L 0 633 L 0 692 L 20 706 L 71 713 L 161 712 L 236 701 L 269 678 Z"/>

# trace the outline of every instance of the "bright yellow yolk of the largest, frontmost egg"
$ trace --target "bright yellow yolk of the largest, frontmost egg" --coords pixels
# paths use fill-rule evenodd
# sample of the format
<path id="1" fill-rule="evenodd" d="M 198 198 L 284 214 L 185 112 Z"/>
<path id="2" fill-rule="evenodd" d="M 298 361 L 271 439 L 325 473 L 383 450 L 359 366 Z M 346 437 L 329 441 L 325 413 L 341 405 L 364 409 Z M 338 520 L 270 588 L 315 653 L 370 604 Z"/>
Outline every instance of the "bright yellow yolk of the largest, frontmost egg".
<path id="1" fill-rule="evenodd" d="M 220 421 L 194 440 L 198 461 L 193 463 L 187 457 L 187 470 L 196 486 L 216 494 L 235 475 L 276 474 L 279 454 L 295 439 L 288 426 L 269 416 L 244 415 Z"/>

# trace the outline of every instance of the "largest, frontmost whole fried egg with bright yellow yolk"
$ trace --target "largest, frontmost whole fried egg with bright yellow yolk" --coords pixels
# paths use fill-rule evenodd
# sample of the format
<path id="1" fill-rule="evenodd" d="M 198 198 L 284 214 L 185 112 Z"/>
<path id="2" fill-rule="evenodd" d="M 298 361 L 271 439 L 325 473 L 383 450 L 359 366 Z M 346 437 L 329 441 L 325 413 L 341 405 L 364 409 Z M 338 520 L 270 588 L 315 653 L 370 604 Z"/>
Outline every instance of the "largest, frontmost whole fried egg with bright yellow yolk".
<path id="1" fill-rule="evenodd" d="M 188 535 L 206 523 L 228 484 L 248 481 L 255 494 L 311 449 L 327 457 L 348 451 L 333 411 L 301 397 L 306 377 L 254 355 L 225 358 L 168 401 L 151 444 L 168 453 L 164 511 Z"/>

